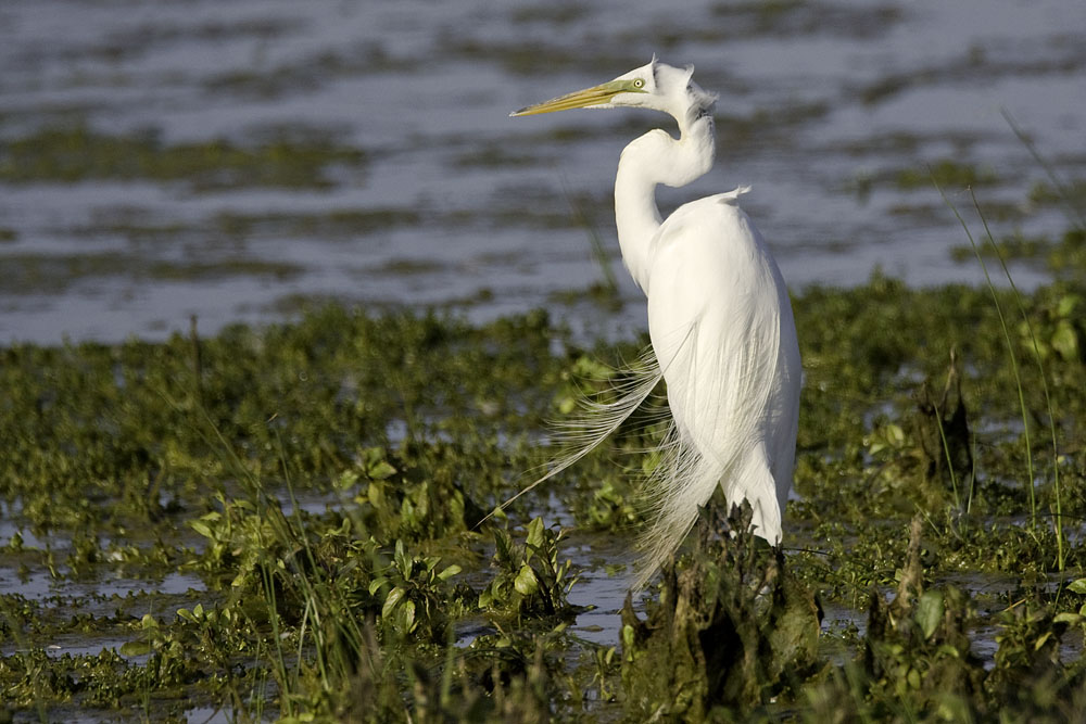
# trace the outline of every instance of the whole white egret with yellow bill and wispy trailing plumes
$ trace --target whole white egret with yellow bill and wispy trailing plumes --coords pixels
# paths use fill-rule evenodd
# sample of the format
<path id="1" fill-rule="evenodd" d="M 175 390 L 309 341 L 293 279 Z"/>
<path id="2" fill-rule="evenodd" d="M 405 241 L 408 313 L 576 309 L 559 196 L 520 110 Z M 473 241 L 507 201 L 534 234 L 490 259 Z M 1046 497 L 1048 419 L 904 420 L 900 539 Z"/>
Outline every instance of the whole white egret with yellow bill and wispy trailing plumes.
<path id="1" fill-rule="evenodd" d="M 779 544 L 796 450 L 799 345 L 781 271 L 738 205 L 748 188 L 683 204 L 667 220 L 656 206 L 658 183 L 685 186 L 712 166 L 717 96 L 695 85 L 693 73 L 654 56 L 609 82 L 510 114 L 629 106 L 679 123 L 678 140 L 657 128 L 627 145 L 615 178 L 622 261 L 648 297 L 652 350 L 617 402 L 589 406 L 582 447 L 534 483 L 583 457 L 660 377 L 667 381 L 667 463 L 651 481 L 659 509 L 636 587 L 674 552 L 717 485 L 729 505 L 749 500 L 756 534 Z"/>

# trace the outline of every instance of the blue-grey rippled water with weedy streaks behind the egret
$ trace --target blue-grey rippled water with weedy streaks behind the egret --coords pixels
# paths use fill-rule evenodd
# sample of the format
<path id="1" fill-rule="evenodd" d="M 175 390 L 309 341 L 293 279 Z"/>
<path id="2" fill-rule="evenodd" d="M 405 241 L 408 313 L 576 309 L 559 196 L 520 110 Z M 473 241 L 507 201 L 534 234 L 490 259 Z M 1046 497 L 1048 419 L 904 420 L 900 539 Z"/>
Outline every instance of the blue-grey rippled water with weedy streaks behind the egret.
<path id="1" fill-rule="evenodd" d="M 717 167 L 662 190 L 665 209 L 750 185 L 745 206 L 794 288 L 876 267 L 976 281 L 949 256 L 964 238 L 930 168 L 950 170 L 967 215 L 973 186 L 997 236 L 1061 230 L 1058 208 L 1031 201 L 1046 170 L 1005 114 L 1058 175 L 1081 173 L 1084 35 L 1086 9 L 1065 0 L 5 2 L 7 143 L 80 128 L 114 139 L 122 167 L 126 142 L 197 154 L 317 139 L 356 155 L 288 183 L 10 161 L 0 340 L 161 338 L 191 315 L 214 331 L 321 296 L 479 319 L 544 306 L 590 331 L 640 330 L 610 187 L 623 144 L 665 119 L 507 116 L 653 53 L 720 93 Z M 577 297 L 603 278 L 593 234 L 628 302 L 618 315 Z"/>

